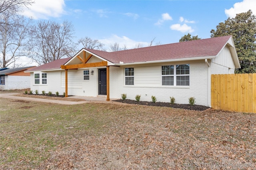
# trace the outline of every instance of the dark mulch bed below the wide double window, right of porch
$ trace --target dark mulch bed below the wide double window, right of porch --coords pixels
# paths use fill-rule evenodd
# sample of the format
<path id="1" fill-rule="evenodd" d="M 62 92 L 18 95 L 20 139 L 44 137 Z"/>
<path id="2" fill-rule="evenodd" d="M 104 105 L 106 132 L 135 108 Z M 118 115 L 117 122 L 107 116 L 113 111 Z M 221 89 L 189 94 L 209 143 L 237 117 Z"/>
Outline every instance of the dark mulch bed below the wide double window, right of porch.
<path id="1" fill-rule="evenodd" d="M 172 107 L 172 108 L 179 108 L 179 109 L 187 109 L 187 110 L 197 110 L 197 111 L 204 111 L 206 109 L 209 109 L 210 107 L 207 106 L 202 106 L 202 105 L 189 105 L 189 104 L 170 104 L 166 102 L 145 102 L 145 101 L 140 101 L 137 102 L 136 100 L 114 100 L 115 102 L 120 102 L 120 103 L 127 103 L 127 104 L 140 104 L 140 105 L 146 105 L 146 106 L 160 106 L 160 107 Z"/>

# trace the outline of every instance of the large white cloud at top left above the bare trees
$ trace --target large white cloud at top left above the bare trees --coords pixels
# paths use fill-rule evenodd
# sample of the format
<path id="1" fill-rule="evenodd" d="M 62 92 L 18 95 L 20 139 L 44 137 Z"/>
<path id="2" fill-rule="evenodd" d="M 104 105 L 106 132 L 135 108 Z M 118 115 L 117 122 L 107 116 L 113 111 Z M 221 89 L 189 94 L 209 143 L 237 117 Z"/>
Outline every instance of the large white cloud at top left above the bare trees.
<path id="1" fill-rule="evenodd" d="M 38 19 L 58 18 L 64 11 L 64 0 L 34 0 L 30 9 L 24 9 L 22 15 Z"/>

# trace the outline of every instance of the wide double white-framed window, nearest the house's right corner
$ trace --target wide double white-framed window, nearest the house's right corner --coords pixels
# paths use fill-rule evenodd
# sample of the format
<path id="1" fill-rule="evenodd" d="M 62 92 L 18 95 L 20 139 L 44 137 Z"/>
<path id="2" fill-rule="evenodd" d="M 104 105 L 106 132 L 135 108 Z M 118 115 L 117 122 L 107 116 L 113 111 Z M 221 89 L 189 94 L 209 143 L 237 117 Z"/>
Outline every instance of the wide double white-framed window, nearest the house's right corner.
<path id="1" fill-rule="evenodd" d="M 189 64 L 162 66 L 162 86 L 189 86 Z"/>

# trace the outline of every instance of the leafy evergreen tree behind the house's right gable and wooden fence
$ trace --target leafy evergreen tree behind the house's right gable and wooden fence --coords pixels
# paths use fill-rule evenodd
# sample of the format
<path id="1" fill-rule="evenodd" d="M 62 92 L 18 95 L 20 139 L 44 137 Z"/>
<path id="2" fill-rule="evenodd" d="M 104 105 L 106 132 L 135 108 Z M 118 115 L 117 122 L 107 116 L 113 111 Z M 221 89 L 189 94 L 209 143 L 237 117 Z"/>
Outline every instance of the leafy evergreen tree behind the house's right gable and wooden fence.
<path id="1" fill-rule="evenodd" d="M 211 37 L 233 36 L 241 65 L 236 73 L 256 73 L 256 17 L 251 10 L 228 18 L 210 32 Z"/>

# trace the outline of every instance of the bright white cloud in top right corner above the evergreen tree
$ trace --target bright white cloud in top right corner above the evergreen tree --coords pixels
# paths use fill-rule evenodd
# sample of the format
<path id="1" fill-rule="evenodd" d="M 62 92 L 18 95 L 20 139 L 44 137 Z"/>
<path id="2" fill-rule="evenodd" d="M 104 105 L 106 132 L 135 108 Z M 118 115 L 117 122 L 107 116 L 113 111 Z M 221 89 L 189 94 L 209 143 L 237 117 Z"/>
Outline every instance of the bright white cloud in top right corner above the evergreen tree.
<path id="1" fill-rule="evenodd" d="M 225 14 L 227 17 L 235 18 L 236 14 L 240 14 L 242 12 L 247 12 L 248 10 L 252 10 L 252 13 L 256 15 L 256 1 L 255 0 L 243 0 L 242 2 L 237 2 L 230 9 L 225 9 Z"/>

